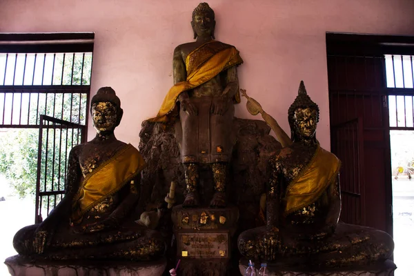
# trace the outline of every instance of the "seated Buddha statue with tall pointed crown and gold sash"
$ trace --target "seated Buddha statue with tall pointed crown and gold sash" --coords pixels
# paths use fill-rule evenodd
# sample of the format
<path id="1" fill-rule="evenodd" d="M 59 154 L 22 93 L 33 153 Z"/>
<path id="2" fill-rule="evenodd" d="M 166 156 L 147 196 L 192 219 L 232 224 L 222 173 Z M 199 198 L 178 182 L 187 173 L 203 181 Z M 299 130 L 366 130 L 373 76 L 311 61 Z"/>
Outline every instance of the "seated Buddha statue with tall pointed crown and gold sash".
<path id="1" fill-rule="evenodd" d="M 261 108 L 249 100 L 248 109 Z M 318 119 L 319 107 L 302 81 L 288 110 L 291 142 L 268 162 L 266 226 L 239 235 L 239 251 L 249 259 L 307 268 L 384 262 L 394 248 L 387 233 L 338 222 L 341 164 L 319 146 Z"/>

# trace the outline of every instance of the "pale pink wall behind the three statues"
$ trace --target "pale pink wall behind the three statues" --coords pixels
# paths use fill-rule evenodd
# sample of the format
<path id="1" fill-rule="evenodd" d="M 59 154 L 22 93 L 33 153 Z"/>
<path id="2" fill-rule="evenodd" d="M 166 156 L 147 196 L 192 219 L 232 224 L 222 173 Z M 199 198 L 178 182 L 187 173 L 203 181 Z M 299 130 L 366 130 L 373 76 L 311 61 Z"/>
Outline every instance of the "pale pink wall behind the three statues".
<path id="1" fill-rule="evenodd" d="M 194 0 L 2 0 L 0 32 L 95 32 L 92 93 L 112 86 L 124 119 L 117 137 L 139 144 L 172 86 L 172 51 L 192 41 Z M 289 132 L 287 110 L 304 80 L 319 104 L 317 137 L 330 147 L 326 32 L 414 35 L 413 0 L 210 0 L 216 39 L 241 52 L 240 87 Z M 245 101 L 236 116 L 252 118 Z M 259 117 L 255 117 L 259 119 Z M 90 137 L 92 124 L 89 122 Z"/>

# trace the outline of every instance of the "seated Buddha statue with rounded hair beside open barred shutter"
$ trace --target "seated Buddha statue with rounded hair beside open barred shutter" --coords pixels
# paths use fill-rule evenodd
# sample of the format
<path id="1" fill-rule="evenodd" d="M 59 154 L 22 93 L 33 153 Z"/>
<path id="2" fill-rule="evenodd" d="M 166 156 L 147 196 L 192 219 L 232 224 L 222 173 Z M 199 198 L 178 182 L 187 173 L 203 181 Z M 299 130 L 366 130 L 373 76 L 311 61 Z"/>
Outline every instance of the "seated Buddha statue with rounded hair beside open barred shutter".
<path id="1" fill-rule="evenodd" d="M 65 197 L 40 224 L 19 230 L 13 246 L 34 259 L 161 257 L 161 235 L 134 222 L 145 161 L 134 146 L 115 138 L 123 110 L 112 88 L 92 97 L 91 115 L 97 135 L 70 150 Z"/>

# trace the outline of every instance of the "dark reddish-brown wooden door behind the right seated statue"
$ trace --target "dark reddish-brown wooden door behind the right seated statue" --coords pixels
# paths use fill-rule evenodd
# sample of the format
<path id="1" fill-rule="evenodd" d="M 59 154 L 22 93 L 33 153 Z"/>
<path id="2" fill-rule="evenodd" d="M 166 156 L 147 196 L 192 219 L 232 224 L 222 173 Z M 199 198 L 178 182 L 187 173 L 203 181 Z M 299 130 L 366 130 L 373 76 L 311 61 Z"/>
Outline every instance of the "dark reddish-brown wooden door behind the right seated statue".
<path id="1" fill-rule="evenodd" d="M 331 145 L 343 163 L 341 218 L 392 235 L 384 55 L 331 41 L 327 35 Z"/>

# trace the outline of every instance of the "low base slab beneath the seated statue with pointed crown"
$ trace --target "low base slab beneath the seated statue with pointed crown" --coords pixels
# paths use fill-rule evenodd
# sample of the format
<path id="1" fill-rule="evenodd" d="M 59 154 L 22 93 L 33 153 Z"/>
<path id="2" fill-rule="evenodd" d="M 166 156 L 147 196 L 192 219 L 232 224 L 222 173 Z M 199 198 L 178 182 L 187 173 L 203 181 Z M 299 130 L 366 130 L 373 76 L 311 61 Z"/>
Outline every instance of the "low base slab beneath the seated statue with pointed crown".
<path id="1" fill-rule="evenodd" d="M 248 260 L 240 259 L 239 270 L 244 275 L 247 269 Z M 255 263 L 257 273 L 259 273 L 260 264 Z M 362 266 L 353 268 L 329 268 L 325 270 L 298 270 L 297 268 L 283 266 L 282 264 L 268 264 L 267 272 L 269 276 L 388 276 L 394 275 L 397 268 L 393 261 L 386 260 L 382 264 L 373 266 Z"/>

